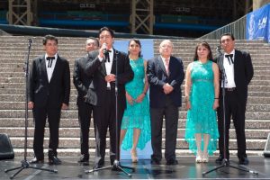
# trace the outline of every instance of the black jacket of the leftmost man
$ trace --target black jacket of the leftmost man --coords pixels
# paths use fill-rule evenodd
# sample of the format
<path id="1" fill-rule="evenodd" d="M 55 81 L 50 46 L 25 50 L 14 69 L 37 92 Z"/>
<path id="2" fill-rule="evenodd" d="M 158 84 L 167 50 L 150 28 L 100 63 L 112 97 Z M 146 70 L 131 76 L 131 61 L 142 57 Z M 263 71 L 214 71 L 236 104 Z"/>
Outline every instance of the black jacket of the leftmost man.
<path id="1" fill-rule="evenodd" d="M 29 101 L 34 107 L 60 108 L 69 103 L 70 73 L 67 59 L 58 56 L 50 81 L 45 55 L 34 58 L 29 76 Z"/>

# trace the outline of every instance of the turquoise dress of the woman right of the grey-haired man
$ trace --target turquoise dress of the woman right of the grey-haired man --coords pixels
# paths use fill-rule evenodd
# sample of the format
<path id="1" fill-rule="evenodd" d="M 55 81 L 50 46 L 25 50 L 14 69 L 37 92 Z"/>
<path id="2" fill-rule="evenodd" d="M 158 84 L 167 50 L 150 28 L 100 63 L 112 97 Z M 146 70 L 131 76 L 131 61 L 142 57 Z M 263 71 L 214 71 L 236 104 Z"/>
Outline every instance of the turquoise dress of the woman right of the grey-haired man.
<path id="1" fill-rule="evenodd" d="M 214 103 L 212 62 L 208 60 L 202 64 L 198 60 L 194 61 L 191 79 L 191 109 L 187 111 L 184 139 L 188 142 L 189 149 L 196 154 L 195 133 L 209 134 L 208 153 L 212 155 L 217 149 L 219 139 L 216 111 L 212 109 Z M 201 149 L 203 150 L 203 136 Z"/>

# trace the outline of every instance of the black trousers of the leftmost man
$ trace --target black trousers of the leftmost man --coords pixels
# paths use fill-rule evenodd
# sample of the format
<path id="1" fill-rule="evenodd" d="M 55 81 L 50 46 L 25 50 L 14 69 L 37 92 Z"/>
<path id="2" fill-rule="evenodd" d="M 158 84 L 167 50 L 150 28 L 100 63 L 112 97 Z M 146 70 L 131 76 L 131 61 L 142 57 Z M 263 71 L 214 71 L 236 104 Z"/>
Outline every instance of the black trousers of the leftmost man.
<path id="1" fill-rule="evenodd" d="M 54 154 L 57 156 L 58 148 L 58 130 L 60 121 L 60 108 L 33 108 L 33 120 L 34 120 L 34 140 L 33 150 L 35 157 L 44 158 L 43 141 L 44 141 L 44 128 L 46 125 L 46 119 L 48 117 L 49 122 L 49 155 Z"/>

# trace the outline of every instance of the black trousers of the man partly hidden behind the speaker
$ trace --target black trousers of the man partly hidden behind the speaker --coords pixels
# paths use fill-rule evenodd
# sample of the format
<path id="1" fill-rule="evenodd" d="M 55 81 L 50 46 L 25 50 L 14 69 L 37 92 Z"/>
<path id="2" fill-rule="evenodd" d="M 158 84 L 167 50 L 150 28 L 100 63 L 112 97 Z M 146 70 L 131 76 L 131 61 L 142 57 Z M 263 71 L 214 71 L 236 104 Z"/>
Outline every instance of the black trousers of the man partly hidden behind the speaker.
<path id="1" fill-rule="evenodd" d="M 89 128 L 93 106 L 88 103 L 79 103 L 77 108 L 78 121 L 80 123 L 81 154 L 89 156 Z"/>

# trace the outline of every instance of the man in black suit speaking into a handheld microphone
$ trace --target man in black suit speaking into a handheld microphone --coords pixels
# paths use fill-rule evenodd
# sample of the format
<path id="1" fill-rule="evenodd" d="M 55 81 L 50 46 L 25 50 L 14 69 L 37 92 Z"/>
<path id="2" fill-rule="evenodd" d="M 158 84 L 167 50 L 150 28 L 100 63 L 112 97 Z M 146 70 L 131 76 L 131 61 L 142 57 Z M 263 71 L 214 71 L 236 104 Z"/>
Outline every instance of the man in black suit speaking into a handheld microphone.
<path id="1" fill-rule="evenodd" d="M 114 33 L 110 28 L 103 27 L 99 31 L 101 49 L 89 53 L 89 61 L 85 67 L 88 76 L 93 76 L 87 94 L 87 101 L 94 105 L 94 130 L 95 130 L 95 159 L 94 168 L 104 165 L 106 148 L 106 133 L 110 131 L 110 159 L 111 165 L 119 158 L 119 147 L 116 147 L 116 126 L 118 134 L 121 130 L 121 119 L 126 108 L 125 84 L 129 82 L 134 73 L 130 67 L 130 59 L 127 54 L 112 48 Z M 117 66 L 116 66 L 117 64 Z M 117 69 L 117 71 L 116 71 Z M 117 78 L 117 115 L 115 81 Z M 119 144 L 119 143 L 118 143 Z M 118 150 L 118 152 L 116 152 Z M 117 154 L 116 154 L 117 153 Z M 117 159 L 119 160 L 119 159 Z"/>

